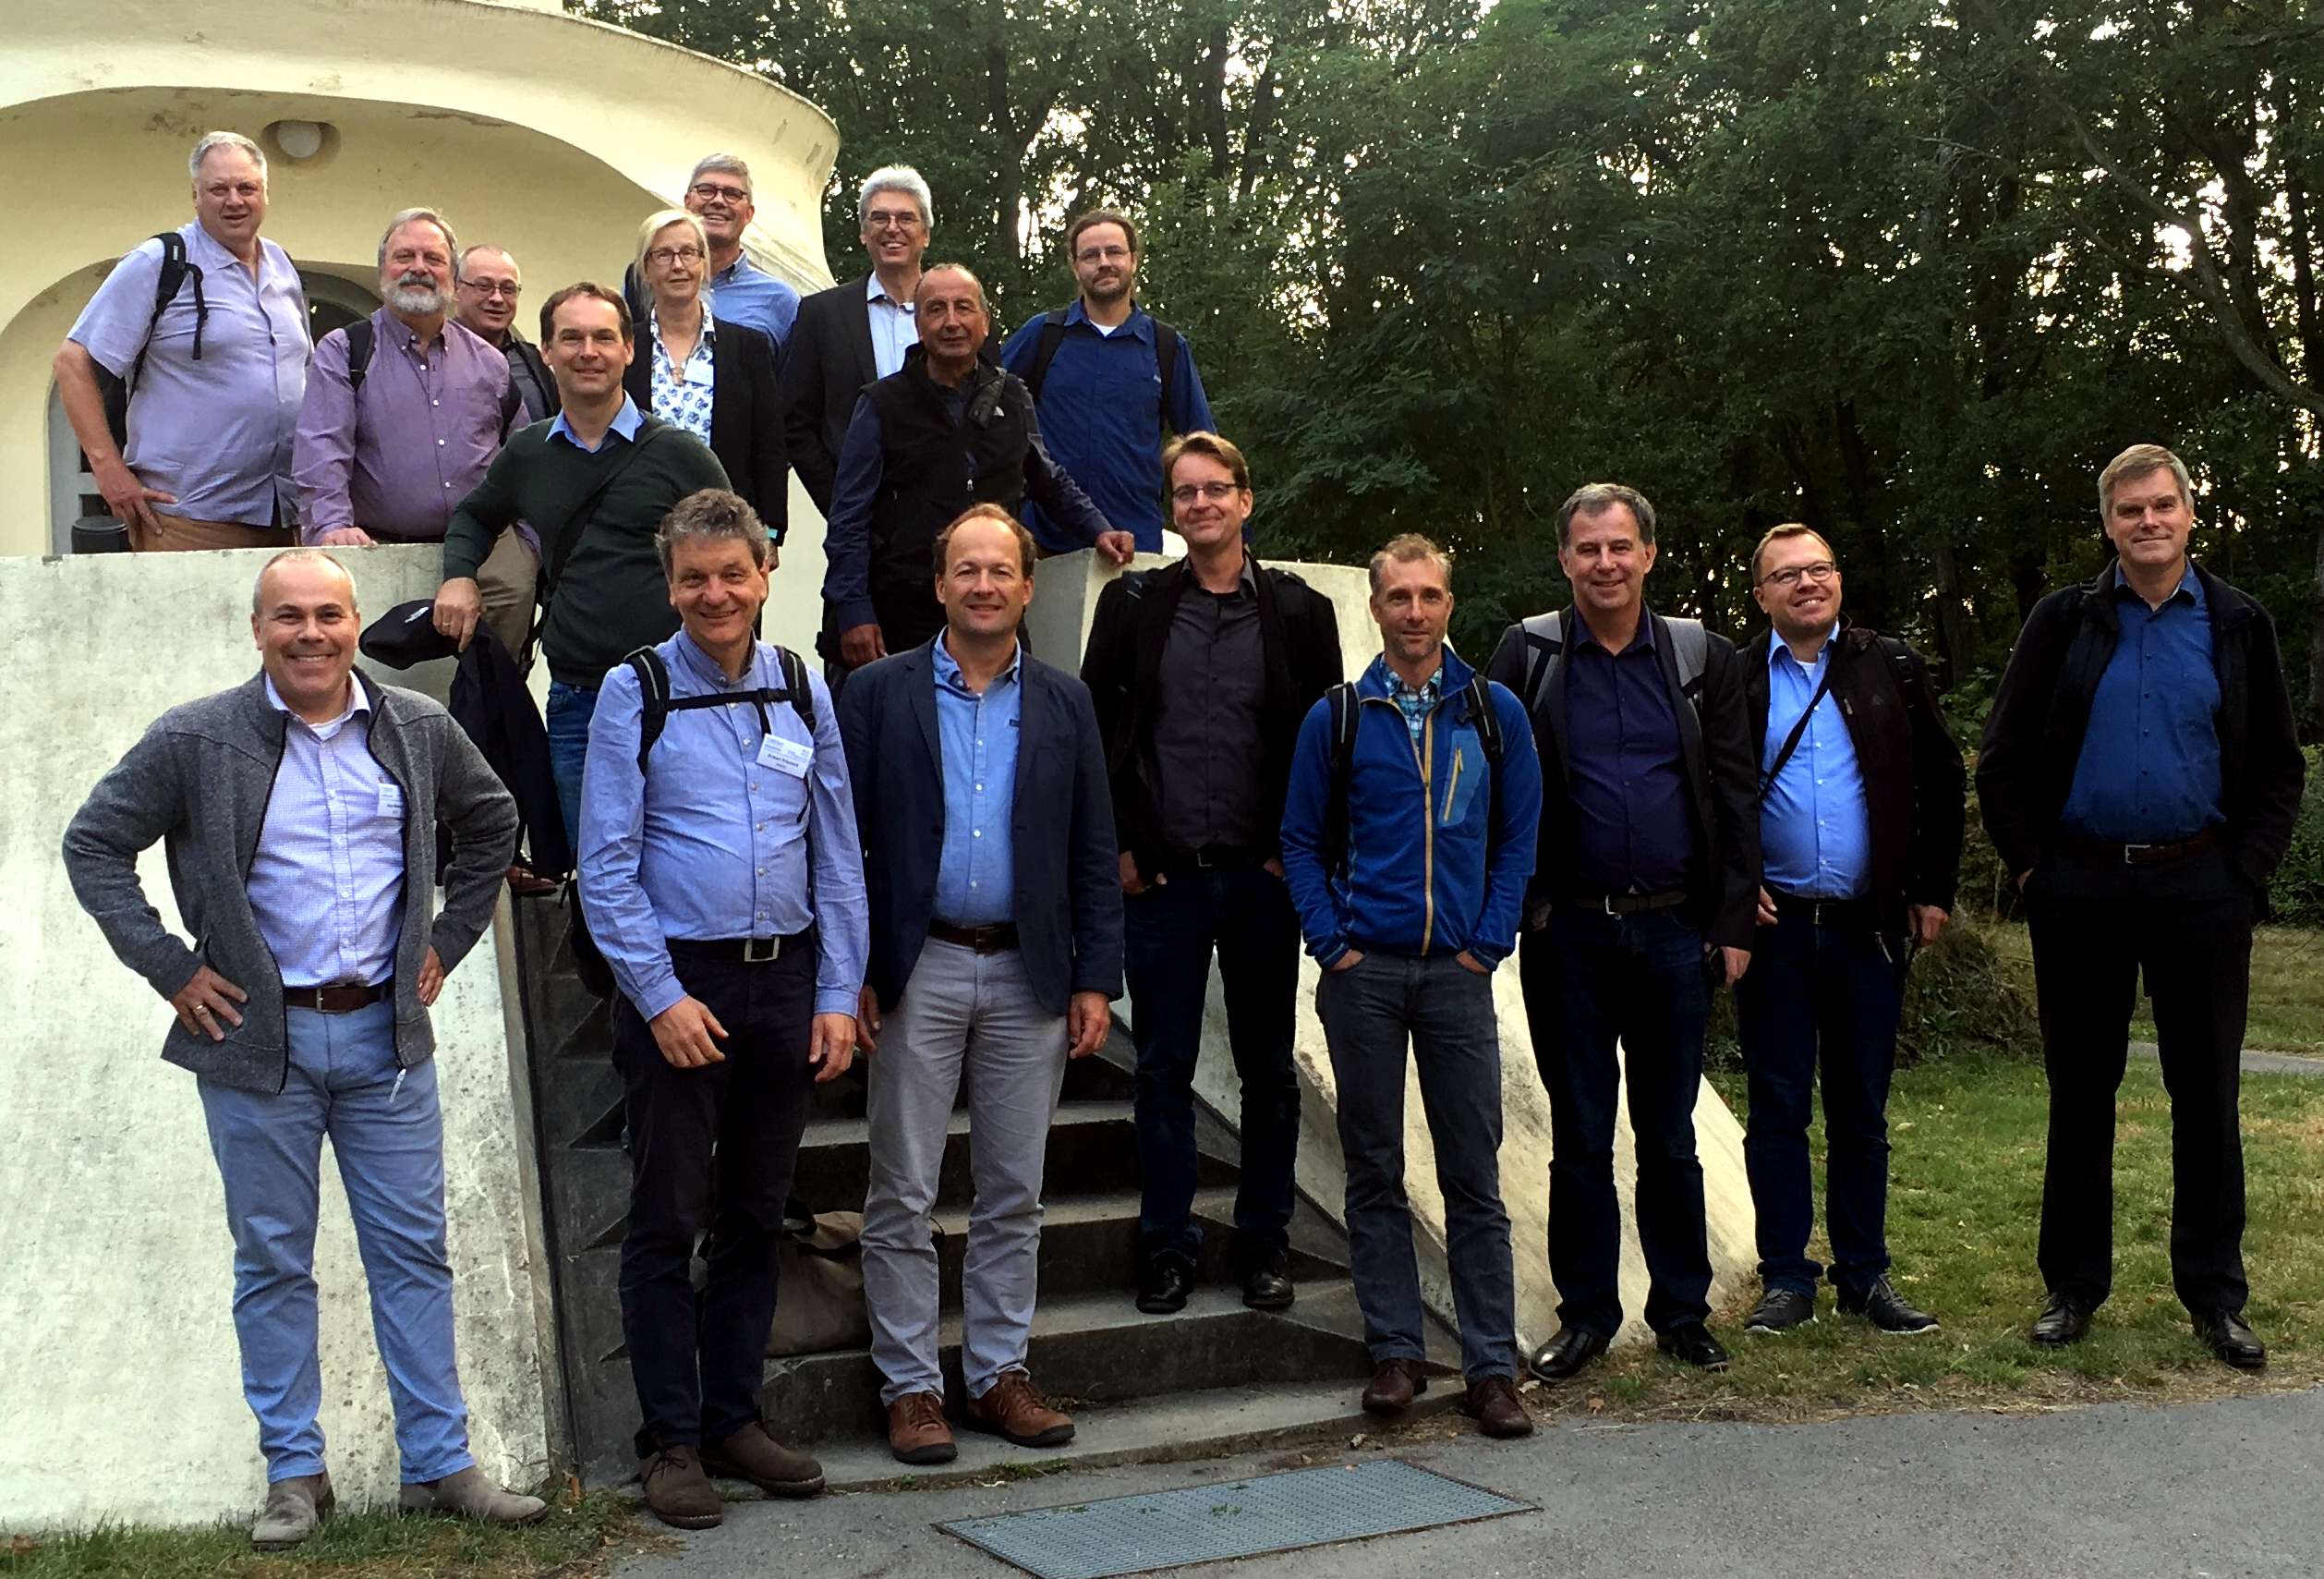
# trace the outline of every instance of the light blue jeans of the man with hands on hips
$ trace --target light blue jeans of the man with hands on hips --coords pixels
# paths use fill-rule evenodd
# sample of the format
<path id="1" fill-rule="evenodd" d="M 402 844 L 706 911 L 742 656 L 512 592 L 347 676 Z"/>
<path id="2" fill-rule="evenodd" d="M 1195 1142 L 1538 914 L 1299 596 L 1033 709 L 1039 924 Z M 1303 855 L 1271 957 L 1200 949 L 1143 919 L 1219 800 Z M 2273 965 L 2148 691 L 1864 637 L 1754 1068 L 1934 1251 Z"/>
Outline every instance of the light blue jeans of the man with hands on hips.
<path id="1" fill-rule="evenodd" d="M 314 1226 L 325 1135 L 372 1291 L 402 1479 L 458 1474 L 476 1460 L 451 1344 L 435 1063 L 397 1070 L 393 998 L 353 1014 L 288 1009 L 288 1021 L 290 1070 L 279 1095 L 200 1084 L 235 1230 L 242 1395 L 258 1416 L 267 1481 L 323 1472 Z"/>

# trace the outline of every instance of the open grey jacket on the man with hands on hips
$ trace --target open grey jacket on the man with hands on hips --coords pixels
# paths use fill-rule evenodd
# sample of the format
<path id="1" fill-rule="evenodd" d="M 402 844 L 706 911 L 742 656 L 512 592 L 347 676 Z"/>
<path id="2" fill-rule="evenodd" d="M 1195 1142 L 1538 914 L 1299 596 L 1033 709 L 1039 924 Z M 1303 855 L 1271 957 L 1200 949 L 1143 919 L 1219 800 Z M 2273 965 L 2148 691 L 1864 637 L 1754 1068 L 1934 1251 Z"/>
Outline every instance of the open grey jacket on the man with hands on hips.
<path id="1" fill-rule="evenodd" d="M 483 753 L 437 702 L 363 674 L 372 700 L 372 756 L 404 791 L 404 923 L 395 944 L 395 1060 L 435 1056 L 418 1000 L 421 963 L 435 946 L 449 972 L 483 935 L 516 851 L 516 802 Z M 281 1091 L 290 1072 L 284 981 L 251 912 L 249 870 L 284 758 L 284 714 L 265 677 L 172 707 L 98 779 L 65 828 L 65 872 L 121 963 L 170 998 L 205 963 L 251 1000 L 223 1042 L 177 1021 L 160 1056 L 242 1091 Z M 451 830 L 444 912 L 430 914 L 437 823 Z M 163 839 L 177 914 L 195 942 L 160 923 L 137 881 L 137 853 Z"/>

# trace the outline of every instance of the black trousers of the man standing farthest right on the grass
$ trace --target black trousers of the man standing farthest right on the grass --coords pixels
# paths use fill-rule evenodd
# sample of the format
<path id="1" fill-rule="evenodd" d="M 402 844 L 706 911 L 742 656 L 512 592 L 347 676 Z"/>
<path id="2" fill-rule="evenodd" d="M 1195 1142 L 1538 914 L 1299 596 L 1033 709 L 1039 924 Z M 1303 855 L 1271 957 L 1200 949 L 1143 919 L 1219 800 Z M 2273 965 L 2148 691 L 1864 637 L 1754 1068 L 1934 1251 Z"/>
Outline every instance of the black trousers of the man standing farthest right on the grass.
<path id="1" fill-rule="evenodd" d="M 2219 849 L 2154 867 L 2061 851 L 2027 881 L 2027 923 L 2050 1067 L 2043 1281 L 2092 1305 L 2115 1281 L 2115 1093 L 2143 974 L 2171 1093 L 2171 1284 L 2192 1312 L 2240 1312 L 2250 884 Z"/>

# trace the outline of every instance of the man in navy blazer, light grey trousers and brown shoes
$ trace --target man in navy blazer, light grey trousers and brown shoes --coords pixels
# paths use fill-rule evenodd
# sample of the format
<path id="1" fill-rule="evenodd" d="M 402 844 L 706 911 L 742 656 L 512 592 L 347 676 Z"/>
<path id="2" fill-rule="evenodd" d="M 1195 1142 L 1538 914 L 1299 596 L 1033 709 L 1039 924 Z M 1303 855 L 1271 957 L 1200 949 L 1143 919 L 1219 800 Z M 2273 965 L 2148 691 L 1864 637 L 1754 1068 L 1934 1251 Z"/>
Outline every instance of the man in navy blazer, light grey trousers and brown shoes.
<path id="1" fill-rule="evenodd" d="M 946 628 L 858 670 L 839 700 L 871 900 L 865 1300 L 902 1463 L 955 1456 L 930 1221 L 962 1081 L 976 1177 L 962 1419 L 1018 1446 L 1074 1435 L 1027 1379 L 1025 1346 L 1048 1123 L 1067 1060 L 1113 1021 L 1122 888 L 1090 693 L 1018 644 L 1032 565 L 1016 516 L 969 509 L 937 537 Z"/>

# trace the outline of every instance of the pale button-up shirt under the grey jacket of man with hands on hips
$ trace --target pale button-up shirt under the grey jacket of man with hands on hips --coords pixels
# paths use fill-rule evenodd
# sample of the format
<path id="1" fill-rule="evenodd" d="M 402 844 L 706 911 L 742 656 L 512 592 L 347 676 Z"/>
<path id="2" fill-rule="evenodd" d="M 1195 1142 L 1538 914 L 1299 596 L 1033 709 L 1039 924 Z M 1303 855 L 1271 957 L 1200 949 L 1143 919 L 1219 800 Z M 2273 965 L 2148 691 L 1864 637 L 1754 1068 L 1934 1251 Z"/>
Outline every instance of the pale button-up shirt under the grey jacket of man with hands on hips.
<path id="1" fill-rule="evenodd" d="M 360 679 L 330 723 L 284 714 L 284 760 L 258 828 L 249 895 L 284 986 L 374 986 L 404 935 L 404 791 L 372 756 Z"/>

